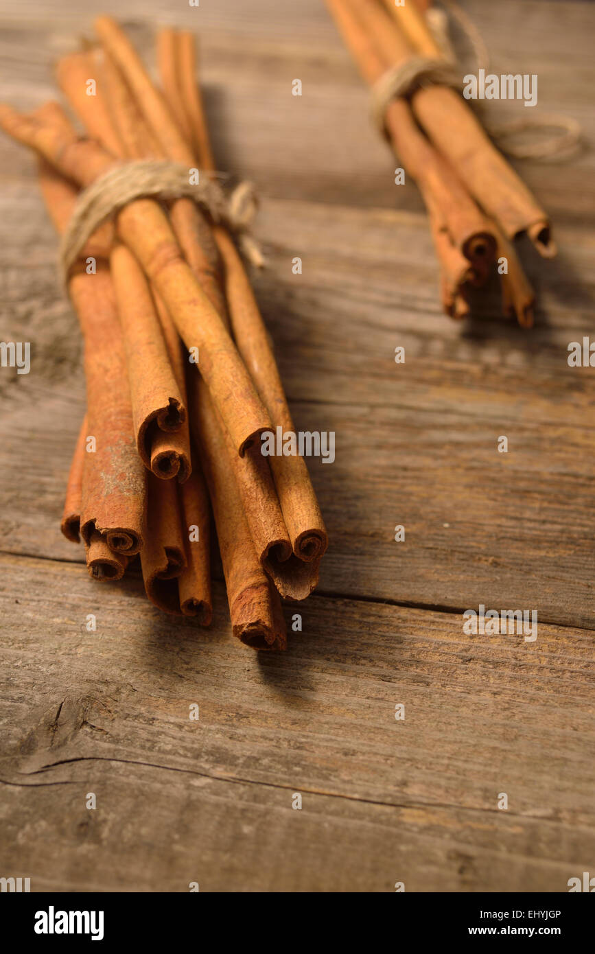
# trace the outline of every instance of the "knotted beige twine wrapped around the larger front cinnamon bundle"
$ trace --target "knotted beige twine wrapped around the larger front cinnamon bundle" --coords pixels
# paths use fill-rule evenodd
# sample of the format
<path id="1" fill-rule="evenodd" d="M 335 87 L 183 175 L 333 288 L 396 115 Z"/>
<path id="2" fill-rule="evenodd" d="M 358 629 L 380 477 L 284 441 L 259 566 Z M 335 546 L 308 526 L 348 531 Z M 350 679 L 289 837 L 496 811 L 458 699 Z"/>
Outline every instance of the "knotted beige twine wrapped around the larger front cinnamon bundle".
<path id="1" fill-rule="evenodd" d="M 261 249 L 250 234 L 257 204 L 252 183 L 240 182 L 226 196 L 221 186 L 205 174 L 199 174 L 198 182 L 193 185 L 188 166 L 182 163 L 139 159 L 114 165 L 77 198 L 60 243 L 60 270 L 65 284 L 74 261 L 93 232 L 136 198 L 192 198 L 216 224 L 227 226 L 252 264 L 258 267 L 264 264 Z"/>

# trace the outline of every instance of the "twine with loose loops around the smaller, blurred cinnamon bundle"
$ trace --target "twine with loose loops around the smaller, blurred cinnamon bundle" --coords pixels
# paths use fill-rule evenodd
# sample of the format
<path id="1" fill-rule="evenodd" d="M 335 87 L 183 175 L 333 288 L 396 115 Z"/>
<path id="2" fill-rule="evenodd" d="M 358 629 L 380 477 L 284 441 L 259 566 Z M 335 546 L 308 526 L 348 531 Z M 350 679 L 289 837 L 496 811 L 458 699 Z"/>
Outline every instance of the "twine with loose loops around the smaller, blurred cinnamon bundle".
<path id="1" fill-rule="evenodd" d="M 489 51 L 483 42 L 482 34 L 469 19 L 464 10 L 455 0 L 442 0 L 448 13 L 457 20 L 462 32 L 471 45 L 475 60 L 476 72 L 480 67 L 487 71 L 489 66 Z M 384 115 L 388 104 L 399 96 L 409 98 L 416 90 L 431 85 L 450 86 L 460 91 L 460 67 L 457 67 L 456 57 L 448 38 L 448 22 L 444 10 L 430 8 L 426 12 L 426 21 L 441 51 L 443 59 L 426 56 L 412 56 L 399 66 L 387 70 L 372 87 L 372 118 L 386 136 Z M 578 150 L 583 130 L 578 120 L 571 116 L 560 114 L 545 114 L 540 117 L 523 115 L 521 118 L 511 119 L 501 124 L 489 123 L 483 120 L 483 126 L 488 135 L 494 139 L 507 156 L 517 159 L 557 159 L 569 158 Z M 543 141 L 535 141 L 526 145 L 519 145 L 506 140 L 517 133 L 527 130 L 553 129 L 558 135 L 551 135 Z"/>

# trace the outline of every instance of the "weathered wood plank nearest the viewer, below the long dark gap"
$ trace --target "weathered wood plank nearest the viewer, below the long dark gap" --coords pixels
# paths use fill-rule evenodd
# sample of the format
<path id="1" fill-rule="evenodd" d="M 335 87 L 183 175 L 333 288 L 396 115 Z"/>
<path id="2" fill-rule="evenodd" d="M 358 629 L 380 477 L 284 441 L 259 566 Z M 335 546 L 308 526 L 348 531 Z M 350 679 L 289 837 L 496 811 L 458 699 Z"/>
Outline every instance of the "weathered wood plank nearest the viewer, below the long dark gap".
<path id="1" fill-rule="evenodd" d="M 218 586 L 204 632 L 134 579 L 0 567 L 3 863 L 33 889 L 561 891 L 588 867 L 592 633 L 314 597 L 258 656 Z"/>

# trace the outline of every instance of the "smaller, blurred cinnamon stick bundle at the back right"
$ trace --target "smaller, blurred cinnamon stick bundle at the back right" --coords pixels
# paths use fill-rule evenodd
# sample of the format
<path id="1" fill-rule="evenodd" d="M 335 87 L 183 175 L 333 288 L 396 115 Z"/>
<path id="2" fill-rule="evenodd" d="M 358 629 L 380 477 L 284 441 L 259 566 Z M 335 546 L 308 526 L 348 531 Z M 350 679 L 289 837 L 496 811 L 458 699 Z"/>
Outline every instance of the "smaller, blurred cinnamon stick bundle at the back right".
<path id="1" fill-rule="evenodd" d="M 551 258 L 556 249 L 549 222 L 468 102 L 441 82 L 444 53 L 424 17 L 428 3 L 327 4 L 377 103 L 380 96 L 384 135 L 421 190 L 441 265 L 445 313 L 469 316 L 473 289 L 487 287 L 497 274 L 504 315 L 532 326 L 535 295 L 513 239 L 526 233 L 538 252 Z M 385 101 L 380 93 L 387 80 L 403 93 Z"/>

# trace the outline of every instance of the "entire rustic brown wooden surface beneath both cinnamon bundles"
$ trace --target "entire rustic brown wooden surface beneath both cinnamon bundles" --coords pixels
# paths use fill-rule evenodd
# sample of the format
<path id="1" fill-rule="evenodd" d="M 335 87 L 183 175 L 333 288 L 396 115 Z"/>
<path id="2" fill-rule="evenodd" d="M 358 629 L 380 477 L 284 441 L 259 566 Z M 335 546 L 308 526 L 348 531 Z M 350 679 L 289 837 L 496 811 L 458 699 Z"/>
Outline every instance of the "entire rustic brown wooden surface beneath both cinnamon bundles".
<path id="1" fill-rule="evenodd" d="M 145 52 L 156 24 L 199 32 L 219 165 L 263 197 L 256 289 L 297 426 L 337 433 L 336 462 L 311 467 L 331 549 L 318 593 L 287 607 L 303 632 L 282 655 L 234 642 L 220 582 L 203 632 L 154 610 L 135 577 L 92 582 L 60 537 L 81 345 L 34 162 L 0 139 L 0 338 L 32 342 L 30 375 L 0 369 L 0 876 L 558 892 L 592 873 L 595 371 L 569 368 L 566 347 L 593 328 L 595 9 L 465 6 L 496 71 L 538 73 L 537 109 L 576 116 L 591 146 L 519 165 L 560 245 L 551 263 L 522 250 L 530 333 L 441 316 L 420 197 L 394 186 L 321 2 L 103 5 Z M 3 99 L 53 94 L 52 61 L 91 27 L 79 8 L 3 0 Z M 464 635 L 480 603 L 537 609 L 537 641 Z"/>

